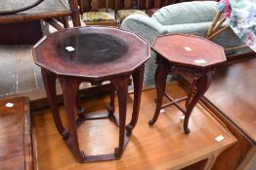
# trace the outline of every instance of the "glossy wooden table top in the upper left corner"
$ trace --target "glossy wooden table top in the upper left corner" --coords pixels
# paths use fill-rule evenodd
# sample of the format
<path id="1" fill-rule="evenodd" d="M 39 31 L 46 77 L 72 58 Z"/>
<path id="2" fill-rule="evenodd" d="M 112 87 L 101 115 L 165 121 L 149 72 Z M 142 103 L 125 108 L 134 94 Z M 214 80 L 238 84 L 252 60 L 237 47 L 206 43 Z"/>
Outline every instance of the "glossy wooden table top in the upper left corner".
<path id="1" fill-rule="evenodd" d="M 0 0 L 0 13 L 18 10 L 34 4 L 37 0 Z M 68 16 L 71 14 L 68 0 L 44 0 L 29 10 L 18 14 L 0 16 L 0 22 L 21 21 L 46 17 Z"/>

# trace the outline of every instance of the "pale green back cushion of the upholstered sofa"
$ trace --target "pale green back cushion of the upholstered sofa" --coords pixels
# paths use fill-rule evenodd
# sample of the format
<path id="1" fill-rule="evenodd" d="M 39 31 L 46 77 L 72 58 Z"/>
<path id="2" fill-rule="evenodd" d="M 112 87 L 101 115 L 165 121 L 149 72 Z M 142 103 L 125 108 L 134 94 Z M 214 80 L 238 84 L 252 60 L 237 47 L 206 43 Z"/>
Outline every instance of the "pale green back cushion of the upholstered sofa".
<path id="1" fill-rule="evenodd" d="M 212 21 L 217 13 L 217 2 L 193 1 L 161 8 L 151 17 L 162 25 Z"/>

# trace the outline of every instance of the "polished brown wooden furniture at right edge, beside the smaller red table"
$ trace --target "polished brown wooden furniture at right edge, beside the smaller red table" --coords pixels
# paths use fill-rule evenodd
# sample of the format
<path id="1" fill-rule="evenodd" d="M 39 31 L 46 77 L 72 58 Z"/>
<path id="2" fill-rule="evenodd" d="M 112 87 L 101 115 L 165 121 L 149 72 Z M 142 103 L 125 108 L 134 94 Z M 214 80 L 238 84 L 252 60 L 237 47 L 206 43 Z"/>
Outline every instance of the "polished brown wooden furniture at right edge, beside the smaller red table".
<path id="1" fill-rule="evenodd" d="M 255 68 L 255 54 L 221 65 L 202 100 L 237 139 L 219 155 L 213 170 L 256 169 Z"/>

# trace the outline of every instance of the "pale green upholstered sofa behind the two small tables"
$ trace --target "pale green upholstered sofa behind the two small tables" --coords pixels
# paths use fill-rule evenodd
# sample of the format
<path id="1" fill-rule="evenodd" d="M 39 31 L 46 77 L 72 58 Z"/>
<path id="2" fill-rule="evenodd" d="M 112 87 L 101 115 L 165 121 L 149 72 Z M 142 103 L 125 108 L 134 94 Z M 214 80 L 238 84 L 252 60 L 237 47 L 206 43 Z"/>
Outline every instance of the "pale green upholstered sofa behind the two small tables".
<path id="1" fill-rule="evenodd" d="M 184 2 L 163 7 L 152 17 L 139 15 L 127 17 L 123 20 L 121 28 L 135 32 L 146 39 L 150 45 L 154 38 L 161 34 L 186 33 L 204 37 L 216 13 L 217 2 Z M 225 48 L 242 44 L 230 28 L 214 37 L 212 41 Z M 226 54 L 243 51 L 249 50 L 226 51 Z M 156 67 L 154 58 L 155 53 L 151 51 L 151 57 L 146 63 L 144 85 L 154 85 L 153 76 Z"/>

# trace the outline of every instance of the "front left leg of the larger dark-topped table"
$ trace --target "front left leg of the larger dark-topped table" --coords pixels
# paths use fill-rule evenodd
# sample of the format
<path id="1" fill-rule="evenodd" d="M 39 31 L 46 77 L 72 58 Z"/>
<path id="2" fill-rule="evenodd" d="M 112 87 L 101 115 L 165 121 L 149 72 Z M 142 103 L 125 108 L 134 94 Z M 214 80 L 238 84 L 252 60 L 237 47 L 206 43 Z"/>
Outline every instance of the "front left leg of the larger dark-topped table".
<path id="1" fill-rule="evenodd" d="M 75 155 L 79 162 L 84 159 L 84 154 L 79 149 L 77 137 L 77 125 L 75 121 L 75 101 L 76 94 L 79 88 L 79 82 L 76 78 L 60 77 L 59 81 L 63 88 L 64 93 L 64 109 L 68 124 L 69 136 L 65 140 L 71 152 Z"/>

